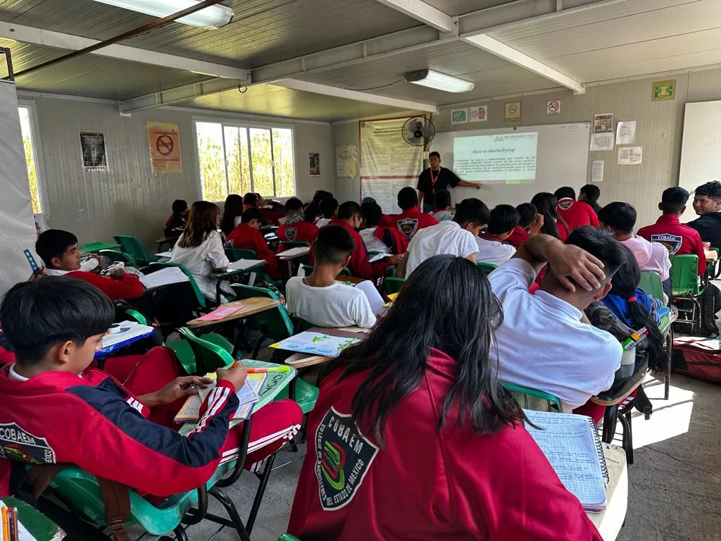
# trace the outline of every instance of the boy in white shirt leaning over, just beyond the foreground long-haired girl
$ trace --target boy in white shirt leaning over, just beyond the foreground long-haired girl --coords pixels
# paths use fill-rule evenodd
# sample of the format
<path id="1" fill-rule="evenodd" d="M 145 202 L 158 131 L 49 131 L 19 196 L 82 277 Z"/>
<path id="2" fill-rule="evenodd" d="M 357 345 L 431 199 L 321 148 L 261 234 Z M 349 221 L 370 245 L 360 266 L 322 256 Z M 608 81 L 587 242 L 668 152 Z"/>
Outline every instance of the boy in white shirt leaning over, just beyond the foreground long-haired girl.
<path id="1" fill-rule="evenodd" d="M 455 255 L 475 263 L 478 255 L 476 235 L 489 219 L 488 207 L 483 201 L 464 199 L 456 205 L 456 216 L 452 221 L 424 227 L 410 239 L 396 275 L 408 278 L 418 265 L 434 255 Z"/>

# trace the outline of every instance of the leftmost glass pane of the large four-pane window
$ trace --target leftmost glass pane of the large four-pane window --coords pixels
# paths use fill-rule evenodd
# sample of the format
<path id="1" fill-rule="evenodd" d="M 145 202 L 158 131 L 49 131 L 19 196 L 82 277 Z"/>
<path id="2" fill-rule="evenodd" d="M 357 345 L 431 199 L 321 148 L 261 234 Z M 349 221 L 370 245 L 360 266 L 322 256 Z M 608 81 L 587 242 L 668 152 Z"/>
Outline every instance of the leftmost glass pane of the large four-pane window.
<path id="1" fill-rule="evenodd" d="M 205 201 L 224 201 L 228 196 L 225 159 L 223 156 L 223 128 L 215 122 L 195 123 L 198 136 L 200 183 Z"/>

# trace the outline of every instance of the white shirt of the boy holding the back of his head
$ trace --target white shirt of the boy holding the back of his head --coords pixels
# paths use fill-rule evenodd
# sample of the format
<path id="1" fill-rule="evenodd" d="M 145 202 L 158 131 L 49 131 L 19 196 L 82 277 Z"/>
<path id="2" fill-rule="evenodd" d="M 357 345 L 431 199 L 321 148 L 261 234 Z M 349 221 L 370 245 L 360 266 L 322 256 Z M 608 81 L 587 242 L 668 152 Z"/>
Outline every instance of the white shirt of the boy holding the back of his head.
<path id="1" fill-rule="evenodd" d="M 528 293 L 536 278 L 530 263 L 511 259 L 488 275 L 503 304 L 503 325 L 495 332 L 503 382 L 559 397 L 564 410 L 578 408 L 614 382 L 622 348 L 605 330 L 580 322 L 582 312 L 546 291 Z"/>

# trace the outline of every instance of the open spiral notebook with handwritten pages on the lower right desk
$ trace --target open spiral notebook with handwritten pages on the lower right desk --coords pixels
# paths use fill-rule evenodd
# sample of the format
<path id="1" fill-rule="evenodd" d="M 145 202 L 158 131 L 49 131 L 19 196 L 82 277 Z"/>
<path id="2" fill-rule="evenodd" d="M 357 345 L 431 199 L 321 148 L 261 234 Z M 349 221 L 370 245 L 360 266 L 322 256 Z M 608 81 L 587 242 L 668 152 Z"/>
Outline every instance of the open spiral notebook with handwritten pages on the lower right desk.
<path id="1" fill-rule="evenodd" d="M 526 423 L 528 432 L 583 509 L 591 513 L 606 509 L 609 470 L 593 420 L 572 413 L 523 411 L 528 421 L 540 428 Z"/>

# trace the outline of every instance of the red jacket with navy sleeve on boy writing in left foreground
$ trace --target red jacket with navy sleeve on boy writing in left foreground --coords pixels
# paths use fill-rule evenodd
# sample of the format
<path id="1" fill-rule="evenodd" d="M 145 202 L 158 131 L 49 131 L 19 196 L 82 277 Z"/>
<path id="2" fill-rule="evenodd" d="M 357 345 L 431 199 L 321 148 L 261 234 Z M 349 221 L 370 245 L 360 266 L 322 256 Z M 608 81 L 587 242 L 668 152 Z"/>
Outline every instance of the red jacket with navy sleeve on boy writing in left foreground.
<path id="1" fill-rule="evenodd" d="M 150 408 L 103 371 L 49 371 L 19 382 L 9 368 L 0 369 L 0 497 L 15 488 L 15 460 L 70 462 L 141 494 L 190 491 L 216 471 L 238 407 L 233 385 L 218 382 L 195 430 L 182 436 L 149 421 Z"/>

